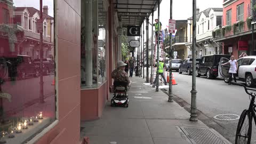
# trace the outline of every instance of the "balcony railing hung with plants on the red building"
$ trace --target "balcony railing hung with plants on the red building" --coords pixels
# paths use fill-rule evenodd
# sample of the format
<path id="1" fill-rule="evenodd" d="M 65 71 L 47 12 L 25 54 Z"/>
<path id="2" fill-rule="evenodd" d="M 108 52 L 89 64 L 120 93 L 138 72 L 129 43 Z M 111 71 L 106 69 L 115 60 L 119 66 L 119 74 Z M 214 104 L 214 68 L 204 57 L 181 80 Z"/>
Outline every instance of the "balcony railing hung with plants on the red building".
<path id="1" fill-rule="evenodd" d="M 250 31 L 252 30 L 252 28 L 250 24 L 247 25 L 247 22 L 251 23 L 251 20 L 247 19 L 246 21 L 238 21 L 236 23 L 233 23 L 232 26 L 224 26 L 217 28 L 212 31 L 212 36 L 213 38 L 222 38 Z"/>

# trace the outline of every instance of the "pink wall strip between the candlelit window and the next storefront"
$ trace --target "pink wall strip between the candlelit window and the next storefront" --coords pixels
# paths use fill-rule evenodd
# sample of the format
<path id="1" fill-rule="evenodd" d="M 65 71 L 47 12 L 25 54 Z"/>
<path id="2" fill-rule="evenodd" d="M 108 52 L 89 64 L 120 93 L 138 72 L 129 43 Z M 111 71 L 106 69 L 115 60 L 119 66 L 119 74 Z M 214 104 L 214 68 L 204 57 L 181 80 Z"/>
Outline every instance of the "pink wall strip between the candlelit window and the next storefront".
<path id="1" fill-rule="evenodd" d="M 37 144 L 79 143 L 81 1 L 56 1 L 59 123 Z M 74 33 L 77 31 L 77 33 Z"/>

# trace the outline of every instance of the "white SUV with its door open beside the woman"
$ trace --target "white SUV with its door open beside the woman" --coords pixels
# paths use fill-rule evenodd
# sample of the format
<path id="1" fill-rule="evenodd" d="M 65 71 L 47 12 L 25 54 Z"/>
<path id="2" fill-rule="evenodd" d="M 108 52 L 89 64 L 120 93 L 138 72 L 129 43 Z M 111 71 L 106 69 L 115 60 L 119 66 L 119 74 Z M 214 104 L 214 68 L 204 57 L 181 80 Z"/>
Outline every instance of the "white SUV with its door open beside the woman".
<path id="1" fill-rule="evenodd" d="M 229 58 L 221 58 L 220 63 L 226 63 Z M 246 86 L 254 86 L 256 82 L 256 56 L 247 56 L 237 60 L 238 70 L 236 77 L 239 81 L 245 82 Z M 230 65 L 219 66 L 219 76 L 223 78 L 225 83 L 229 80 Z"/>

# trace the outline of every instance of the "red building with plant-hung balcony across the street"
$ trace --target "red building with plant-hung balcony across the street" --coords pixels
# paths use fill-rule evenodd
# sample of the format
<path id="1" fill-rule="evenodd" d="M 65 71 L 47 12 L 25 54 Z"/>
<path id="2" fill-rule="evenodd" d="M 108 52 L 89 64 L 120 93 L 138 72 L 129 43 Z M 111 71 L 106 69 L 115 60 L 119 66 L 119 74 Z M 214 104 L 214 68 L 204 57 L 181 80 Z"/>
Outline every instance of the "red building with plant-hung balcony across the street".
<path id="1" fill-rule="evenodd" d="M 242 52 L 255 55 L 251 38 L 251 7 L 251 0 L 223 1 L 223 27 L 215 30 L 214 38 L 214 42 L 222 42 L 223 54 L 231 54 L 235 58 Z"/>

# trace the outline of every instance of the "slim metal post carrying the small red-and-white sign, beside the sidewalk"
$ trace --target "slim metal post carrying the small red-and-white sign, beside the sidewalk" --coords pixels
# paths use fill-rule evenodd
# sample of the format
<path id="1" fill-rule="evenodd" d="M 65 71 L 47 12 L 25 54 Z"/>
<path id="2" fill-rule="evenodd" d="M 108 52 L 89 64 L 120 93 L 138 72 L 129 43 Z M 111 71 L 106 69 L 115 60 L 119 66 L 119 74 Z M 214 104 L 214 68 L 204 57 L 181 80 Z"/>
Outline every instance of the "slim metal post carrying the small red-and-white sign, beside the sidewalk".
<path id="1" fill-rule="evenodd" d="M 170 19 L 172 19 L 172 0 L 170 1 Z M 173 102 L 172 94 L 172 34 L 170 33 L 170 50 L 169 50 L 169 62 L 170 62 L 170 81 L 169 81 L 169 93 L 168 93 L 168 102 Z"/>

